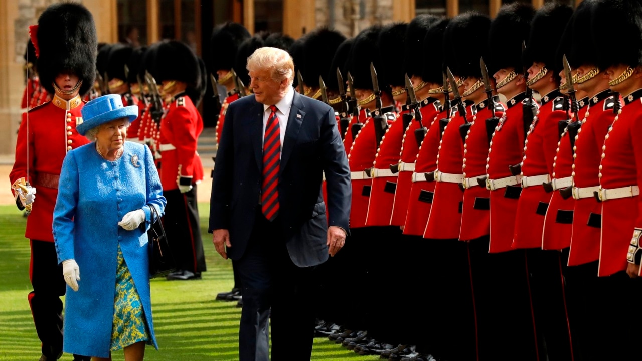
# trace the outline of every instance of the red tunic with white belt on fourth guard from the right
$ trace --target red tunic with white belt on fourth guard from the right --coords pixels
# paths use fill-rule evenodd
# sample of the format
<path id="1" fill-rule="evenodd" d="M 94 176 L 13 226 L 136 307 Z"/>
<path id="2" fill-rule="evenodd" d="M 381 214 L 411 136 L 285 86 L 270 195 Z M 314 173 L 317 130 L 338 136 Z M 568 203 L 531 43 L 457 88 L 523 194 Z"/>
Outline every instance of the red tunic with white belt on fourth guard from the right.
<path id="1" fill-rule="evenodd" d="M 559 140 L 559 121 L 566 120 L 564 97 L 559 91 L 542 96 L 542 105 L 526 137 L 524 157 L 521 163 L 523 177 L 545 177 L 553 173 L 553 159 Z M 544 180 L 548 181 L 548 180 Z M 523 183 L 525 180 L 523 179 Z M 542 182 L 543 183 L 543 182 Z M 514 248 L 542 247 L 544 215 L 551 200 L 541 184 L 523 188 L 517 202 Z"/>

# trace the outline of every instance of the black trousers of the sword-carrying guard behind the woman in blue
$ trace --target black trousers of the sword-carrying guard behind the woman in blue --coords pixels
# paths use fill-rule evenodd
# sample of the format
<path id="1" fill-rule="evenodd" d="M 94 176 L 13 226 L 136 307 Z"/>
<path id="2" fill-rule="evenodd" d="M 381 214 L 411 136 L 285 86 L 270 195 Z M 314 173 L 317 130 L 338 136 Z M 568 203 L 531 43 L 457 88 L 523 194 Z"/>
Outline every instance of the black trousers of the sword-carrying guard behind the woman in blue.
<path id="1" fill-rule="evenodd" d="M 53 242 L 31 240 L 29 278 L 33 291 L 28 295 L 33 323 L 40 342 L 42 355 L 56 360 L 62 353 L 62 301 L 66 283 L 62 265 Z M 74 355 L 74 360 L 89 360 L 89 357 Z"/>

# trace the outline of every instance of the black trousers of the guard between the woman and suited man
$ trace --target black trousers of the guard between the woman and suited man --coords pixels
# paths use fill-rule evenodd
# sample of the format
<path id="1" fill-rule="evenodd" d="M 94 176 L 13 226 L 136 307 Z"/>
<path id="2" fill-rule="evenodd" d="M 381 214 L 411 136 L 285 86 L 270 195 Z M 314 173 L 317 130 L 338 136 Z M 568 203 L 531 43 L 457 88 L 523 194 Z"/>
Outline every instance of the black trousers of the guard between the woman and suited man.
<path id="1" fill-rule="evenodd" d="M 163 191 L 167 199 L 165 215 L 162 218 L 169 247 L 179 270 L 203 272 L 205 254 L 200 234 L 198 204 L 196 203 L 196 184 L 186 193 L 178 189 Z"/>

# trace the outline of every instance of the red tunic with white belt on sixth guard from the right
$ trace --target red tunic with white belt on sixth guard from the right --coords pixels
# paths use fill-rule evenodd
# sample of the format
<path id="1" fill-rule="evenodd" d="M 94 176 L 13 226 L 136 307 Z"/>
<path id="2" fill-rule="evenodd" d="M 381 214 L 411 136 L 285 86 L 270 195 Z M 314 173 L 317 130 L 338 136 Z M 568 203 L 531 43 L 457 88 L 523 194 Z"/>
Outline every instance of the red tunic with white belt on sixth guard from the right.
<path id="1" fill-rule="evenodd" d="M 505 107 L 495 98 L 495 116 L 500 118 Z M 473 107 L 471 128 L 464 144 L 464 164 L 462 170 L 464 177 L 469 179 L 469 186 L 464 190 L 464 203 L 462 204 L 462 225 L 459 239 L 474 240 L 486 236 L 490 232 L 490 191 L 480 187 L 475 179 L 486 174 L 486 162 L 489 150 L 489 141 L 486 132 L 486 119 L 492 117 L 489 101 L 483 100 Z"/>

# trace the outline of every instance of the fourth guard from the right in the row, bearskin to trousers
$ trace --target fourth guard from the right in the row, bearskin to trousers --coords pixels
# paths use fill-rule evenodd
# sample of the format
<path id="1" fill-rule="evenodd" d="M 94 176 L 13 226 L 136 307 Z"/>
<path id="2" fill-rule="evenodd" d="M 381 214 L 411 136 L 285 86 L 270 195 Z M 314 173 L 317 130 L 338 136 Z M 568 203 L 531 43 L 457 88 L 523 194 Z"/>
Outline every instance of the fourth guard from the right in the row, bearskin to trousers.
<path id="1" fill-rule="evenodd" d="M 537 111 L 526 135 L 524 157 L 518 167 L 522 191 L 517 203 L 513 247 L 529 248 L 528 271 L 532 288 L 535 330 L 545 342 L 551 359 L 571 359 L 571 339 L 562 282 L 559 251 L 542 251 L 542 228 L 551 193 L 542 184 L 550 182 L 559 121 L 566 121 L 564 97 L 559 92 L 558 73 L 562 63 L 556 57 L 558 39 L 573 10 L 566 5 L 546 3 L 531 23 L 524 56 L 528 69 L 526 84 L 541 94 Z"/>

